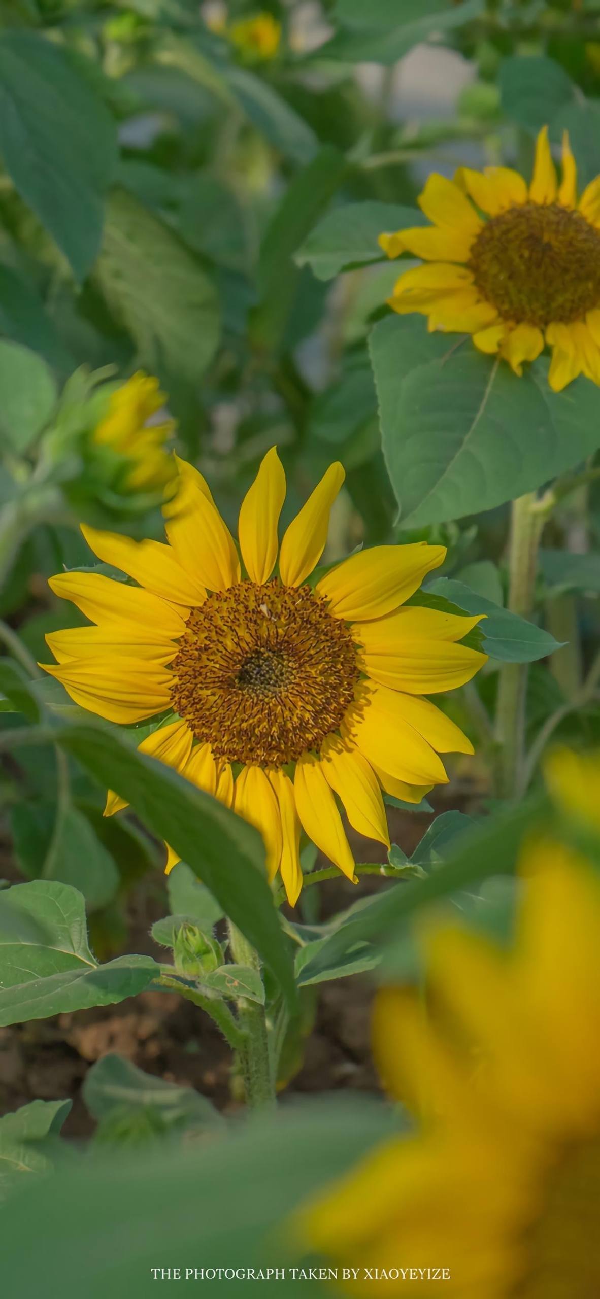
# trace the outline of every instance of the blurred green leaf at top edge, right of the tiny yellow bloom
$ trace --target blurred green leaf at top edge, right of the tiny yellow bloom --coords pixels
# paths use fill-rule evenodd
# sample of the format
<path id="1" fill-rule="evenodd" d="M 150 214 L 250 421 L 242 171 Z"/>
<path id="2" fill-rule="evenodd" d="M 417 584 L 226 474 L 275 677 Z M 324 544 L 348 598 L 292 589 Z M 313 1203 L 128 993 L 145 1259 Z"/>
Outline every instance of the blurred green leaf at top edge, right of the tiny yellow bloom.
<path id="1" fill-rule="evenodd" d="M 339 0 L 336 12 L 352 27 L 348 31 L 340 29 L 331 40 L 321 45 L 319 57 L 344 62 L 395 64 L 429 36 L 461 27 L 479 17 L 484 0 L 461 0 L 456 5 L 452 0 L 422 0 L 421 4 L 417 0 L 401 0 L 401 10 L 397 0 L 377 0 L 373 18 L 370 8 L 361 5 L 360 12 L 356 0 L 348 0 L 347 8 L 344 0 Z M 355 30 L 355 25 L 358 30 Z"/>

